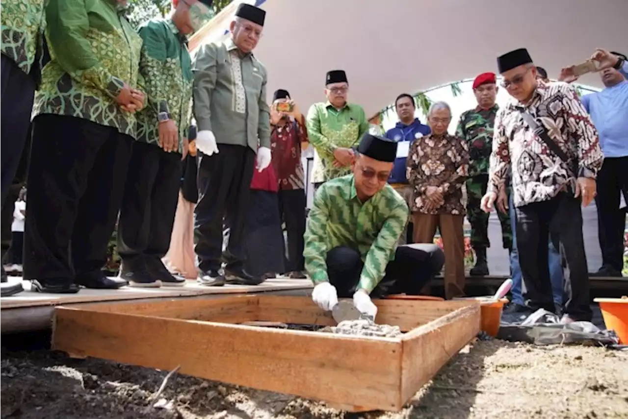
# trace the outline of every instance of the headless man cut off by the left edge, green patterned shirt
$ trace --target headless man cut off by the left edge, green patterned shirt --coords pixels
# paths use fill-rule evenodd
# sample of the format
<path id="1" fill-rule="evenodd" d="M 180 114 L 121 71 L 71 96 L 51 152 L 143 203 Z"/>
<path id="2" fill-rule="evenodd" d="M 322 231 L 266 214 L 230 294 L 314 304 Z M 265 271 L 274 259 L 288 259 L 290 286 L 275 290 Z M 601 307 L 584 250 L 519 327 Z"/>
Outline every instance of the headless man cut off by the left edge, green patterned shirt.
<path id="1" fill-rule="evenodd" d="M 5 199 L 24 149 L 33 95 L 40 78 L 44 1 L 0 1 L 0 207 L 13 208 L 14 199 L 9 203 Z M 0 259 L 3 256 L 4 249 Z M 8 283 L 0 263 L 0 296 L 8 297 L 22 290 L 21 284 Z"/>

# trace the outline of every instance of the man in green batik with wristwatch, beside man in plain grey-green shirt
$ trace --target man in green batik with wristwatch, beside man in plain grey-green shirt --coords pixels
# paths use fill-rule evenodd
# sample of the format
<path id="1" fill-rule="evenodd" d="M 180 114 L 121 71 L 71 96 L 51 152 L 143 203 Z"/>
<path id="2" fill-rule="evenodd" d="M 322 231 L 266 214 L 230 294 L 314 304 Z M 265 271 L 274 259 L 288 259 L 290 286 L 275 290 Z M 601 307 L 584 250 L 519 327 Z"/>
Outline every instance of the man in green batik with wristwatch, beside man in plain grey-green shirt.
<path id="1" fill-rule="evenodd" d="M 187 36 L 208 16 L 212 0 L 173 0 L 168 19 L 143 24 L 139 73 L 148 105 L 137 114 L 118 224 L 120 277 L 131 287 L 182 286 L 161 258 L 168 252 L 192 115 L 192 61 Z"/>

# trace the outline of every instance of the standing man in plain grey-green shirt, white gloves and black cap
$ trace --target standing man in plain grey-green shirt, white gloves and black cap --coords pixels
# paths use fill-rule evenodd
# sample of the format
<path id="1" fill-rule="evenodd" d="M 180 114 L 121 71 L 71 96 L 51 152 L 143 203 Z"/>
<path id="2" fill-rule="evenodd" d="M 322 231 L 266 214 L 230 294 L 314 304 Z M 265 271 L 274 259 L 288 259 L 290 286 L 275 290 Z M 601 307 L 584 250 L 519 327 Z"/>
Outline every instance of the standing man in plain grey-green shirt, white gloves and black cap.
<path id="1" fill-rule="evenodd" d="M 266 68 L 252 53 L 265 16 L 262 9 L 240 4 L 229 40 L 201 46 L 192 63 L 199 151 L 194 250 L 202 285 L 262 281 L 244 270 L 242 242 L 253 170 L 263 171 L 271 162 Z M 222 254 L 224 221 L 230 231 Z"/>

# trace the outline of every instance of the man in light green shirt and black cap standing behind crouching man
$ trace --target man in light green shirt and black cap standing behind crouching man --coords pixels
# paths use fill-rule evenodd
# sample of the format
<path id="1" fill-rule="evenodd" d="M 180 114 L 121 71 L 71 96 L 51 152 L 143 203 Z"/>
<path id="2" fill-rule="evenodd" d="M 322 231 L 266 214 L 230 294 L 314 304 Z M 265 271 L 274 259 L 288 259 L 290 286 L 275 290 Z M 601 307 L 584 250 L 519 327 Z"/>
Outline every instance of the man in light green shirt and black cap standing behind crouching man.
<path id="1" fill-rule="evenodd" d="M 311 105 L 307 129 L 316 153 L 311 183 L 323 182 L 351 172 L 352 147 L 369 130 L 360 105 L 347 102 L 349 82 L 343 70 L 332 70 L 325 77 L 327 102 Z"/>

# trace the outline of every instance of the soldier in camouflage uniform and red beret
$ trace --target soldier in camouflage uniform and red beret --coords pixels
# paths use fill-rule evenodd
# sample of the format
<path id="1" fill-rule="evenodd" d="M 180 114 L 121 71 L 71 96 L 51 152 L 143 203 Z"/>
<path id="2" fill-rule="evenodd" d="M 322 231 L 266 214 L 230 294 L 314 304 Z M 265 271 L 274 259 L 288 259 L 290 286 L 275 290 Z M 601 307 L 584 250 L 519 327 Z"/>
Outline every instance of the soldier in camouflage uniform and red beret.
<path id="1" fill-rule="evenodd" d="M 467 140 L 469 148 L 469 178 L 467 179 L 467 218 L 471 224 L 471 246 L 476 255 L 470 275 L 489 275 L 486 249 L 489 241 L 489 214 L 480 210 L 480 201 L 489 182 L 489 156 L 492 151 L 493 127 L 499 107 L 495 103 L 497 85 L 494 73 L 480 74 L 473 83 L 477 107 L 460 116 L 456 134 Z M 508 213 L 497 211 L 502 225 L 502 242 L 510 252 L 512 230 Z"/>

